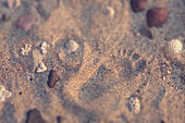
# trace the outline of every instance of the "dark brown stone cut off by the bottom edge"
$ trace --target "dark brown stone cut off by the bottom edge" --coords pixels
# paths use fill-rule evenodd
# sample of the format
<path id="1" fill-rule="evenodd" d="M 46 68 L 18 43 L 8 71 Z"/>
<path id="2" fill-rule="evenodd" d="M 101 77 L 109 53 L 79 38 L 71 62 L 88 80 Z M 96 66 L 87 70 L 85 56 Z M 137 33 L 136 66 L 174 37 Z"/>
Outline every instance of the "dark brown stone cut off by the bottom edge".
<path id="1" fill-rule="evenodd" d="M 46 121 L 37 109 L 33 109 L 27 113 L 26 123 L 46 123 Z"/>

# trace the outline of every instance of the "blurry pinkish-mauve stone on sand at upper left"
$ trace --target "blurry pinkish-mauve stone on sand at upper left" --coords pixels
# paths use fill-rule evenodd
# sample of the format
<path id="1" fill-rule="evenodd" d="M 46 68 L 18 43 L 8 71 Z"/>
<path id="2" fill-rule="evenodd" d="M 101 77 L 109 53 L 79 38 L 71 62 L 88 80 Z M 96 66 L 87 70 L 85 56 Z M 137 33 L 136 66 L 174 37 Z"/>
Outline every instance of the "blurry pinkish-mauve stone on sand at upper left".
<path id="1" fill-rule="evenodd" d="M 34 25 L 35 19 L 32 15 L 22 15 L 16 23 L 16 27 L 22 28 L 24 32 L 30 30 Z"/>

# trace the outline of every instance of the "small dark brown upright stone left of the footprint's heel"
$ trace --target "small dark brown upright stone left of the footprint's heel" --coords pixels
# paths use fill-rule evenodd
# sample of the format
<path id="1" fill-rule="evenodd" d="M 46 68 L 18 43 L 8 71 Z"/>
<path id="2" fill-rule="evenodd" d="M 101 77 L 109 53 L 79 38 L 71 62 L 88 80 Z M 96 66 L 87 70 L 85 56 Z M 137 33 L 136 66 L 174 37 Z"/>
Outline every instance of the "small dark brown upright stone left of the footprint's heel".
<path id="1" fill-rule="evenodd" d="M 48 86 L 53 88 L 55 83 L 60 81 L 58 73 L 54 70 L 51 70 L 48 75 Z"/>

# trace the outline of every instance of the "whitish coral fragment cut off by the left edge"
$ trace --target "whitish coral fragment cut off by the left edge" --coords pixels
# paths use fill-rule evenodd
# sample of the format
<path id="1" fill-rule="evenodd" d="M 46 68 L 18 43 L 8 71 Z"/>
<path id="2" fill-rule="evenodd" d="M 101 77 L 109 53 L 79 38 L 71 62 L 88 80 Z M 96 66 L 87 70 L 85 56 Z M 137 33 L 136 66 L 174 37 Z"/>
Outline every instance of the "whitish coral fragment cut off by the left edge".
<path id="1" fill-rule="evenodd" d="M 10 98 L 12 93 L 7 90 L 2 85 L 0 85 L 0 102 L 5 101 L 5 99 Z"/>

